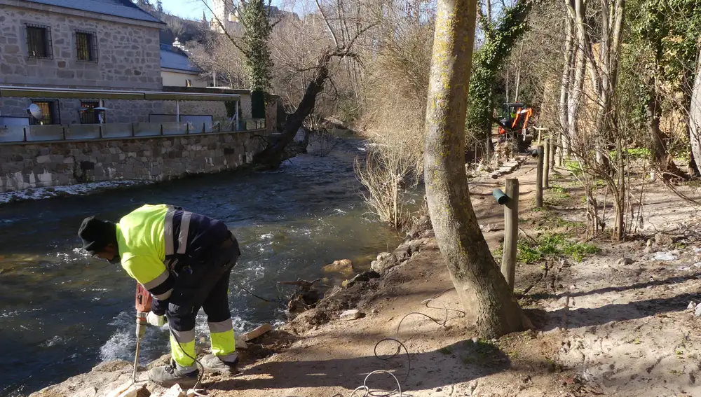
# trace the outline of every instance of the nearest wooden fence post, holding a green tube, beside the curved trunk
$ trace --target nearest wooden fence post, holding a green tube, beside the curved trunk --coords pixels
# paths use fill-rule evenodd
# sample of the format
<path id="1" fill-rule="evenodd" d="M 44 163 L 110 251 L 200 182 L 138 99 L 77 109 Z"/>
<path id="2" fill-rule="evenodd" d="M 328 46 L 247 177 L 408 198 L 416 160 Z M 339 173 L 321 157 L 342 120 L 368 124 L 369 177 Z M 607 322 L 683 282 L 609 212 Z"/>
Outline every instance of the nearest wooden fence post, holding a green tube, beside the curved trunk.
<path id="1" fill-rule="evenodd" d="M 501 258 L 501 273 L 514 291 L 516 277 L 516 255 L 519 242 L 519 180 L 506 180 L 506 195 L 509 197 L 504 206 L 504 249 Z"/>

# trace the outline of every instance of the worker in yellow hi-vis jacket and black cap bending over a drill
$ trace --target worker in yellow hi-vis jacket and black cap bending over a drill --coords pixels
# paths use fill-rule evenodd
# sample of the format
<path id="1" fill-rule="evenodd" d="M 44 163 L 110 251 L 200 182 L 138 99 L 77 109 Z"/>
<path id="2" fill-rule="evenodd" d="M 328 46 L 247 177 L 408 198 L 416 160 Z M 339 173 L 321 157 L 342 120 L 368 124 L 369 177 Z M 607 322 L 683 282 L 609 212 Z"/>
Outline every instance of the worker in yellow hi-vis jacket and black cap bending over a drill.
<path id="1" fill-rule="evenodd" d="M 229 276 L 240 256 L 238 242 L 222 221 L 170 205 L 144 205 L 119 223 L 85 218 L 78 232 L 92 256 L 119 263 L 151 295 L 147 320 L 170 326 L 170 365 L 153 368 L 149 379 L 162 386 L 193 386 L 195 317 L 207 314 L 212 354 L 207 370 L 234 373 L 238 356 L 229 312 Z"/>

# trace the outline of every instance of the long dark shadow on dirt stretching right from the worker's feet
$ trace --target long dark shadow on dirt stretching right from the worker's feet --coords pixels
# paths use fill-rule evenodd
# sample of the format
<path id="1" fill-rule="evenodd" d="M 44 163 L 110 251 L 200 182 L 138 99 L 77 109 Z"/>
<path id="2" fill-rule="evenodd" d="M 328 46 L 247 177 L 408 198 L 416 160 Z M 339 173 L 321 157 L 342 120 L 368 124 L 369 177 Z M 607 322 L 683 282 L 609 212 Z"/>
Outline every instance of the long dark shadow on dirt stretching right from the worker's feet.
<path id="1" fill-rule="evenodd" d="M 390 370 L 404 389 L 435 389 L 469 382 L 510 368 L 508 356 L 489 343 L 471 340 L 421 353 L 394 354 L 396 342 L 386 341 L 376 347 L 378 356 L 334 358 L 329 360 L 271 361 L 248 369 L 243 377 L 224 379 L 207 386 L 210 391 L 245 389 L 292 389 L 304 387 L 338 387 L 353 390 L 374 370 Z M 308 351 L 307 351 L 308 353 Z M 319 354 L 315 354 L 318 356 Z M 304 356 L 301 355 L 302 357 Z M 410 368 L 410 370 L 409 370 Z M 416 372 L 430 377 L 412 377 Z M 386 374 L 369 380 L 372 389 L 393 390 L 396 383 Z"/>

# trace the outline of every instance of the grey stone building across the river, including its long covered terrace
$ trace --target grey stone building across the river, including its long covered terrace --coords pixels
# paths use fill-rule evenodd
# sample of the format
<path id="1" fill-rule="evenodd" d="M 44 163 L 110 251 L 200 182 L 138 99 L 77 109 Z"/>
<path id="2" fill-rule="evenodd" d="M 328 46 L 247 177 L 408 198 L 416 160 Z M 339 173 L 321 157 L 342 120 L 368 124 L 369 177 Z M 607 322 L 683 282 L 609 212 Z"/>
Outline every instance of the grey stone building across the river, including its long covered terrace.
<path id="1" fill-rule="evenodd" d="M 130 0 L 0 0 L 0 129 L 187 121 L 180 106 L 196 107 L 196 120 L 226 118 L 222 92 L 212 94 L 219 98 L 211 110 L 201 106 L 199 94 L 197 106 L 188 104 L 186 92 L 149 95 L 163 92 L 163 27 Z M 167 72 L 174 70 L 168 69 L 170 55 L 177 56 L 166 54 Z M 183 88 L 187 80 L 200 85 L 196 69 L 178 72 L 191 76 L 182 78 Z M 143 98 L 151 100 L 135 100 Z M 39 106 L 41 118 L 29 115 L 31 104 Z"/>

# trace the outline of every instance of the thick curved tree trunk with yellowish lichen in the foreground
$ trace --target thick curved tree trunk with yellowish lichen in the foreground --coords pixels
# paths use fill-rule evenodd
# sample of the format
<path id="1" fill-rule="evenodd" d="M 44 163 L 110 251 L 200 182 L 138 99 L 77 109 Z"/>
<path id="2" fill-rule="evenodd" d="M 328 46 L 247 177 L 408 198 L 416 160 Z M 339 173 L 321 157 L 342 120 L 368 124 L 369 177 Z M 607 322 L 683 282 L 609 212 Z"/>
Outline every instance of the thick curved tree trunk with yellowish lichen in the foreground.
<path id="1" fill-rule="evenodd" d="M 463 153 L 476 0 L 438 0 L 426 109 L 426 197 L 440 251 L 478 335 L 531 327 L 501 275 L 470 203 Z"/>

